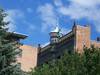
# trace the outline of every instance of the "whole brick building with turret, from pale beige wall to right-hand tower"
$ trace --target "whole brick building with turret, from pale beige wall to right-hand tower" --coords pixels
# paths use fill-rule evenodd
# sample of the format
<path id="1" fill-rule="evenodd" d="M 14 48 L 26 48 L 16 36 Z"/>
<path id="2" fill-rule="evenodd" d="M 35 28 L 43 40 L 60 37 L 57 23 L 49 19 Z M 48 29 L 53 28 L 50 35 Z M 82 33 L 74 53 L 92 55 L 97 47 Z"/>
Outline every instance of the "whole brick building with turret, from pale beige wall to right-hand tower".
<path id="1" fill-rule="evenodd" d="M 89 48 L 91 45 L 100 48 L 100 37 L 95 41 L 90 39 L 90 26 L 74 25 L 72 30 L 65 35 L 61 35 L 59 31 L 59 28 L 56 27 L 54 31 L 50 32 L 50 44 L 45 47 L 40 45 L 38 48 L 28 45 L 20 47 L 22 56 L 18 58 L 18 63 L 21 64 L 23 71 L 28 72 L 31 68 L 57 59 L 65 51 L 82 53 L 84 46 Z"/>

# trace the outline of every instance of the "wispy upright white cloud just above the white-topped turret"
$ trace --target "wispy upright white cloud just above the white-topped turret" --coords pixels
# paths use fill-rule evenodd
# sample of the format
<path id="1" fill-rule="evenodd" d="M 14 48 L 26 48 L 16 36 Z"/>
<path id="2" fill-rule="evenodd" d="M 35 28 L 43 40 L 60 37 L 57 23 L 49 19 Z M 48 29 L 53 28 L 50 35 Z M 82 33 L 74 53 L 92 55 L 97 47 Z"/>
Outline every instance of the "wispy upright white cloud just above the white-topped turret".
<path id="1" fill-rule="evenodd" d="M 57 24 L 57 15 L 54 11 L 54 7 L 51 4 L 45 4 L 38 7 L 38 13 L 42 20 L 42 31 L 45 32 L 48 29 L 55 28 Z"/>

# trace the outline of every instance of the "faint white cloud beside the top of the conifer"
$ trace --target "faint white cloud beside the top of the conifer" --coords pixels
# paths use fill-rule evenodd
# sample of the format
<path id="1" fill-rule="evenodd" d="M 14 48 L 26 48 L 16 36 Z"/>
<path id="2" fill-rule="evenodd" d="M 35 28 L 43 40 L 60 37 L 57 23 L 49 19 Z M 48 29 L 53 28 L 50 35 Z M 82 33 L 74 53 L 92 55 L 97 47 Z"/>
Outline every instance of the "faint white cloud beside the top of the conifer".
<path id="1" fill-rule="evenodd" d="M 6 13 L 8 14 L 7 17 L 5 17 L 4 21 L 10 22 L 7 28 L 9 28 L 9 31 L 15 31 L 16 30 L 16 25 L 17 25 L 17 20 L 21 19 L 24 17 L 24 13 L 20 10 L 17 9 L 10 9 L 7 10 Z"/>

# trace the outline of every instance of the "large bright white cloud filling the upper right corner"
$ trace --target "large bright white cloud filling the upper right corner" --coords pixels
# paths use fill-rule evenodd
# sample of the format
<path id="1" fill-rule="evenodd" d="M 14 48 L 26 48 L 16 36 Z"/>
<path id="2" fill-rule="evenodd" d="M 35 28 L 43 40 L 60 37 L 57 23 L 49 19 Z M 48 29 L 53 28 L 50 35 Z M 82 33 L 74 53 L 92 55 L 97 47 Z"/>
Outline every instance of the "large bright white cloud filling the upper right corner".
<path id="1" fill-rule="evenodd" d="M 70 4 L 60 5 L 57 11 L 70 16 L 71 19 L 87 18 L 95 23 L 95 28 L 100 32 L 100 0 L 69 0 Z"/>

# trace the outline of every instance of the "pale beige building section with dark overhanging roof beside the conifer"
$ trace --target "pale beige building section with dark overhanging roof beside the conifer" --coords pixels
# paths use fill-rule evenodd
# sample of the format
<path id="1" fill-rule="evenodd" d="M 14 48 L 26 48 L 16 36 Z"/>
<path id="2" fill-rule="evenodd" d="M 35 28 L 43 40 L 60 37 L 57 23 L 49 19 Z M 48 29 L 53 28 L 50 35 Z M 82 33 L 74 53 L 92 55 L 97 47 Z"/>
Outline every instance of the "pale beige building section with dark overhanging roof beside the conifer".
<path id="1" fill-rule="evenodd" d="M 7 39 L 18 42 L 25 38 L 27 38 L 25 34 L 15 32 L 8 32 L 7 36 Z M 17 56 L 17 63 L 23 71 L 28 72 L 37 65 L 37 48 L 23 44 L 18 44 L 18 47 L 21 49 L 21 54 Z"/>

